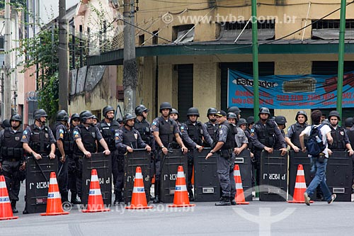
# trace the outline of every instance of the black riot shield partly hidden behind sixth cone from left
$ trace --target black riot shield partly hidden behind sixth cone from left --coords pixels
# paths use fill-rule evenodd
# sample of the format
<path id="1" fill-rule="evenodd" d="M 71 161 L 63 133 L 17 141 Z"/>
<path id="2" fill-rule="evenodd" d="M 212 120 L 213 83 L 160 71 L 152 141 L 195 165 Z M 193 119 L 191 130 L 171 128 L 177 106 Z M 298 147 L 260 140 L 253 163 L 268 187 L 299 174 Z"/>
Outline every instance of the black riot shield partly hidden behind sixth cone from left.
<path id="1" fill-rule="evenodd" d="M 252 201 L 252 163 L 250 150 L 243 150 L 240 154 L 236 155 L 235 164 L 238 164 L 240 167 L 245 201 Z"/>

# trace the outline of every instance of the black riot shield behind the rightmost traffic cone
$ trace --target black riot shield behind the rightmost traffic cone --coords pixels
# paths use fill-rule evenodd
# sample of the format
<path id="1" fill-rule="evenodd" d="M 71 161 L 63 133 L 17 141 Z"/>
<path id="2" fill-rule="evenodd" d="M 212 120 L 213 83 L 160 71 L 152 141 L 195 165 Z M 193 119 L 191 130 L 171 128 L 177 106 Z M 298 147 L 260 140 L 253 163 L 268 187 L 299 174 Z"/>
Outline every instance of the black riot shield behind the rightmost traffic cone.
<path id="1" fill-rule="evenodd" d="M 305 182 L 306 186 L 309 186 L 312 179 L 314 179 L 314 174 L 310 172 L 310 159 L 307 157 L 307 152 L 294 152 L 294 150 L 290 150 L 289 152 L 289 197 L 288 199 L 292 201 L 292 196 L 294 196 L 295 191 L 295 181 L 297 176 L 297 167 L 299 164 L 302 164 L 304 168 Z M 311 199 L 316 201 L 316 191 L 312 195 Z"/>

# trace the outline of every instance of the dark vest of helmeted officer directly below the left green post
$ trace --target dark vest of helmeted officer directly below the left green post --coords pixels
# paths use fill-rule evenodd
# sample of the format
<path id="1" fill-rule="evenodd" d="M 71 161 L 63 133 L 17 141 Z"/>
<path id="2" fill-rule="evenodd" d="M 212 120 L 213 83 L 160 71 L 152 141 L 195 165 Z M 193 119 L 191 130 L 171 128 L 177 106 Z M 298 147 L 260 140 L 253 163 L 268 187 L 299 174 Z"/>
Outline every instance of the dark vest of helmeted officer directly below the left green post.
<path id="1" fill-rule="evenodd" d="M 253 126 L 253 129 L 257 133 L 257 137 L 261 144 L 266 147 L 274 147 L 275 145 L 275 123 L 271 123 L 270 120 L 267 120 L 265 125 L 258 121 L 256 125 Z"/>

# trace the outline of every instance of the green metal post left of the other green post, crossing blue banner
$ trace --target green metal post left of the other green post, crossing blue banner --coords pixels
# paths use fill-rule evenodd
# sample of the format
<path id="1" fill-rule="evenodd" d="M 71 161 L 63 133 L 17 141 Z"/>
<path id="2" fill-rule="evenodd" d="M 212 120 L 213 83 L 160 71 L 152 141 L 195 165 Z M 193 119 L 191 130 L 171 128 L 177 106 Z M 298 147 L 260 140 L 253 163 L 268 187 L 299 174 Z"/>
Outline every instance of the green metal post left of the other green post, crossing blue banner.
<path id="1" fill-rule="evenodd" d="M 258 32 L 257 32 L 257 1 L 252 0 L 252 55 L 253 55 L 253 115 L 255 122 L 259 112 L 258 89 Z"/>

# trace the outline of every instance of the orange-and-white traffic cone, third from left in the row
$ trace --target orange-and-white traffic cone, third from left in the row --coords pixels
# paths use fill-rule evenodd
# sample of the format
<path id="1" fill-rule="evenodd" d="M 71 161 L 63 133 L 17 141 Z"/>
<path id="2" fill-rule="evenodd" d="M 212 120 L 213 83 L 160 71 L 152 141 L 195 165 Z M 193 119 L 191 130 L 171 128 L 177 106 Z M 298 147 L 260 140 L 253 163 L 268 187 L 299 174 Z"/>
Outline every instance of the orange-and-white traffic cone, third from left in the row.
<path id="1" fill-rule="evenodd" d="M 109 208 L 104 208 L 103 198 L 101 194 L 101 186 L 98 183 L 98 176 L 96 169 L 91 170 L 91 183 L 89 191 L 89 203 L 87 204 L 87 209 L 82 210 L 84 213 L 110 211 Z"/>

